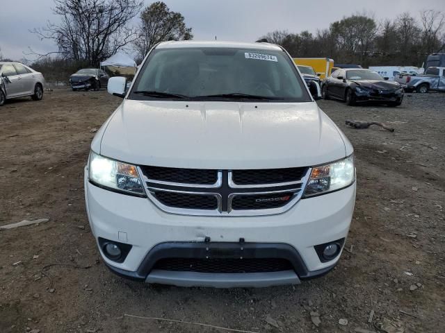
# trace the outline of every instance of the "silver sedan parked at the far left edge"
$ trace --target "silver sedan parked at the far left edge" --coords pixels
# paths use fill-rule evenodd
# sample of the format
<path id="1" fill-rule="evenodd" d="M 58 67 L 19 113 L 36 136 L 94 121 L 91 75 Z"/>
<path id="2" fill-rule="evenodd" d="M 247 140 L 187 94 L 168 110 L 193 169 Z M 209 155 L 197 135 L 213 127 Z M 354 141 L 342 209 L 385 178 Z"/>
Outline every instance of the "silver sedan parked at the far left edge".
<path id="1" fill-rule="evenodd" d="M 42 73 L 19 62 L 0 62 L 0 106 L 7 99 L 31 96 L 34 101 L 43 97 Z"/>

